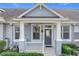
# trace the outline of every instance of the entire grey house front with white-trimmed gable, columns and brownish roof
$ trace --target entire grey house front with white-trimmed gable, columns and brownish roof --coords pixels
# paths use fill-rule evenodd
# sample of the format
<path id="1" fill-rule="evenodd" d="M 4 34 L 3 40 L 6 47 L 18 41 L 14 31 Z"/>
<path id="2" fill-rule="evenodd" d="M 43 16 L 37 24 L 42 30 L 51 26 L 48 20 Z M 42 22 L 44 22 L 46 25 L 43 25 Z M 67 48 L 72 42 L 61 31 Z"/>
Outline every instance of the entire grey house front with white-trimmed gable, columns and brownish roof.
<path id="1" fill-rule="evenodd" d="M 78 46 L 79 10 L 53 10 L 44 4 L 30 9 L 4 9 L 0 13 L 0 39 L 19 52 L 61 55 L 62 43 Z"/>

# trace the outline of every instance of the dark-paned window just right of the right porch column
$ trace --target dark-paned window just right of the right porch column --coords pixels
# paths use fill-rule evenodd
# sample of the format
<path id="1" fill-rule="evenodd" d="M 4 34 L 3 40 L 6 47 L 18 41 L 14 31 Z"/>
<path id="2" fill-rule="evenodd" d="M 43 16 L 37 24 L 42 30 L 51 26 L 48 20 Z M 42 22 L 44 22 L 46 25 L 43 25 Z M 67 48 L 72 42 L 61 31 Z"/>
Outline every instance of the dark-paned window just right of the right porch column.
<path id="1" fill-rule="evenodd" d="M 62 34 L 61 34 L 61 37 L 62 37 L 62 39 L 69 39 L 69 37 L 70 37 L 70 27 L 69 27 L 69 25 L 63 25 L 62 27 L 61 27 L 62 29 L 61 29 L 61 31 L 62 31 Z"/>

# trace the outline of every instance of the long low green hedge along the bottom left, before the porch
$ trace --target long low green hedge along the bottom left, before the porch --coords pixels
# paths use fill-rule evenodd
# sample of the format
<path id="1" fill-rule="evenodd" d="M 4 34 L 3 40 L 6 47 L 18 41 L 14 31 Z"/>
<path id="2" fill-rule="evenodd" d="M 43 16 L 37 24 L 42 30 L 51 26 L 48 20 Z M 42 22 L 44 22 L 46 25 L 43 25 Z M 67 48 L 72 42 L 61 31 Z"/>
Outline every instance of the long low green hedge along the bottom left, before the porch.
<path id="1" fill-rule="evenodd" d="M 2 52 L 1 56 L 43 56 L 42 53 L 29 52 L 29 53 L 18 53 L 18 52 Z"/>

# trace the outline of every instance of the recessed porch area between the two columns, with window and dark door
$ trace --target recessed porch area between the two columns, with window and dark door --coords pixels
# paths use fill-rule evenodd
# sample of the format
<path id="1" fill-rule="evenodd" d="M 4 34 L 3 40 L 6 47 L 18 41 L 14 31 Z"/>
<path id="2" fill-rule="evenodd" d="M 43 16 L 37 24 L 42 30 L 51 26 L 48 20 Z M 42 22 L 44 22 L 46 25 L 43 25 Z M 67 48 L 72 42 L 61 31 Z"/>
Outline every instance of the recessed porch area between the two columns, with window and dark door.
<path id="1" fill-rule="evenodd" d="M 45 54 L 49 54 L 50 50 L 51 51 L 54 50 L 55 48 L 54 24 L 24 24 L 24 25 L 25 25 L 24 32 L 25 32 L 25 46 L 26 46 L 25 50 L 27 52 L 42 52 Z"/>

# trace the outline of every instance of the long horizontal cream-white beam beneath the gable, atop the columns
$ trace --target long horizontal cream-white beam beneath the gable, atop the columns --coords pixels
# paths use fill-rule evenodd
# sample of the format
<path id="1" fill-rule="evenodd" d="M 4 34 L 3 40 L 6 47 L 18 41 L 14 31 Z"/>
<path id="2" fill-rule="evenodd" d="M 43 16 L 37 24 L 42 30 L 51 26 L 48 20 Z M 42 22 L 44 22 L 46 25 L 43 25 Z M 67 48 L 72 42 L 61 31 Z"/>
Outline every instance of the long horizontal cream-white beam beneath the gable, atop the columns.
<path id="1" fill-rule="evenodd" d="M 14 21 L 24 21 L 24 22 L 28 22 L 29 21 L 29 23 L 30 22 L 49 22 L 49 21 L 52 21 L 52 22 L 59 22 L 59 21 L 67 21 L 68 20 L 68 18 L 20 18 L 20 19 L 16 19 L 16 18 L 14 18 L 13 19 Z M 52 23 L 51 22 L 51 23 Z"/>

